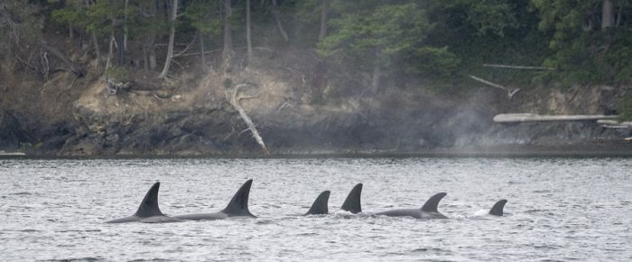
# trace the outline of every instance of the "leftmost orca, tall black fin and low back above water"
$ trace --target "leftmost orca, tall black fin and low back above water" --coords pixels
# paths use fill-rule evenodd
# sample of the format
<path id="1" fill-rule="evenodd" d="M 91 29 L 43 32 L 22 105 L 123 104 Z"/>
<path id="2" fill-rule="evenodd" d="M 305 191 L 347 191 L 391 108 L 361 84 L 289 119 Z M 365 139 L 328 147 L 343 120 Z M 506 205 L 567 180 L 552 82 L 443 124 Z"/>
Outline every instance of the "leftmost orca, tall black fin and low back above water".
<path id="1" fill-rule="evenodd" d="M 127 222 L 144 222 L 144 223 L 169 223 L 169 222 L 181 222 L 182 220 L 167 217 L 160 211 L 158 207 L 158 189 L 160 189 L 160 182 L 155 182 L 152 188 L 144 195 L 144 199 L 138 210 L 134 215 L 129 217 L 120 218 L 116 220 L 109 220 L 106 223 L 127 223 Z"/>

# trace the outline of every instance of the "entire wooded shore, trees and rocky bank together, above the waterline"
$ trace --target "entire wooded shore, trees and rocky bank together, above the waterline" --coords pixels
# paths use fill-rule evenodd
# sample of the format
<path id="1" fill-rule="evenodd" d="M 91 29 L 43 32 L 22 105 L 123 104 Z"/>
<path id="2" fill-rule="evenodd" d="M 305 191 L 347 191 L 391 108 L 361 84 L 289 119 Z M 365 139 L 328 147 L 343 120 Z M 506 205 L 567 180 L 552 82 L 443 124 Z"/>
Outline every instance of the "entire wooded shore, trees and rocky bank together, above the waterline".
<path id="1" fill-rule="evenodd" d="M 0 155 L 627 155 L 632 4 L 575 2 L 3 1 Z"/>

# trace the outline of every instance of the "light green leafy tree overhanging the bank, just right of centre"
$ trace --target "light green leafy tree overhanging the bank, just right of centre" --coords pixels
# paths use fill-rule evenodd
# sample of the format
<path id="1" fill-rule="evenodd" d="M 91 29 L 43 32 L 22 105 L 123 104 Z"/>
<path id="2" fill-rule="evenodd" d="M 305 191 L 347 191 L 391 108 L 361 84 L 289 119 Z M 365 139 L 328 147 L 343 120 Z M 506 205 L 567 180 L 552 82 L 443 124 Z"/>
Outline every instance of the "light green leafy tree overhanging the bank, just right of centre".
<path id="1" fill-rule="evenodd" d="M 339 12 L 346 13 L 330 20 L 335 31 L 319 42 L 319 51 L 324 55 L 336 53 L 360 70 L 379 66 L 386 73 L 425 72 L 427 76 L 432 76 L 431 72 L 451 71 L 459 60 L 445 47 L 426 44 L 434 24 L 414 1 L 407 2 L 354 5 L 365 9 L 349 8 L 349 2 L 334 3 L 342 10 Z"/>

